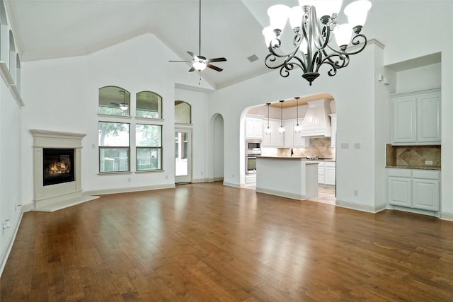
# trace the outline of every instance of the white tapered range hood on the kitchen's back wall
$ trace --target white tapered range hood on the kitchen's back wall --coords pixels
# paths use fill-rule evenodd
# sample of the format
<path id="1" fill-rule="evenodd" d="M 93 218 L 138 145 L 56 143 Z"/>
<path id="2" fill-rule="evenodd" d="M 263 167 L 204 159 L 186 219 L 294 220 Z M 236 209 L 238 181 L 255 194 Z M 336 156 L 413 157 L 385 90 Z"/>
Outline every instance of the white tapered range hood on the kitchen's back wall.
<path id="1" fill-rule="evenodd" d="M 328 116 L 331 113 L 331 101 L 314 100 L 307 104 L 309 108 L 302 122 L 301 137 L 331 137 L 331 118 Z"/>

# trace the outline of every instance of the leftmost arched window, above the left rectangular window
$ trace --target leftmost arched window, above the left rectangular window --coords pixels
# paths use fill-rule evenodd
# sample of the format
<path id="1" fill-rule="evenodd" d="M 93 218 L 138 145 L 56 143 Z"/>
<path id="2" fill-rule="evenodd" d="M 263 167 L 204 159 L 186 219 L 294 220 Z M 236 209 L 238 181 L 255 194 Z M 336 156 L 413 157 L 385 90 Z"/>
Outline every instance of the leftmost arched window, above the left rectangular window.
<path id="1" fill-rule="evenodd" d="M 130 115 L 130 93 L 117 86 L 99 88 L 98 113 L 103 115 Z"/>

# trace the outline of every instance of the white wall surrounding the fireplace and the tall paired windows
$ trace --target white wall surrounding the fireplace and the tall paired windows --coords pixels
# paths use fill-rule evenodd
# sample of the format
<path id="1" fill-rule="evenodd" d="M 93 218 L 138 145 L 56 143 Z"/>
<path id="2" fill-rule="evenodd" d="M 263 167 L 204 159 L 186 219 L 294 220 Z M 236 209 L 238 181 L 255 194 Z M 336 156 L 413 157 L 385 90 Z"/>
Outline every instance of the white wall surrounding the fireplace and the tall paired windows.
<path id="1" fill-rule="evenodd" d="M 178 90 L 175 83 L 197 85 L 198 75 L 185 64 L 166 62 L 171 51 L 154 35 L 142 35 L 84 57 L 23 63 L 23 166 L 32 165 L 29 129 L 86 134 L 82 141 L 82 189 L 90 192 L 174 185 L 174 101 L 193 105 L 194 178 L 205 174 L 206 95 Z M 98 175 L 98 88 L 120 86 L 134 98 L 154 91 L 163 98 L 164 171 Z M 198 86 L 198 85 L 197 85 Z M 201 88 L 210 89 L 205 82 Z M 105 118 L 102 118 L 105 120 Z M 102 120 L 101 119 L 101 120 Z M 127 122 L 127 119 L 125 120 Z M 131 179 L 128 182 L 128 178 Z M 23 203 L 33 202 L 33 173 L 23 169 Z"/>

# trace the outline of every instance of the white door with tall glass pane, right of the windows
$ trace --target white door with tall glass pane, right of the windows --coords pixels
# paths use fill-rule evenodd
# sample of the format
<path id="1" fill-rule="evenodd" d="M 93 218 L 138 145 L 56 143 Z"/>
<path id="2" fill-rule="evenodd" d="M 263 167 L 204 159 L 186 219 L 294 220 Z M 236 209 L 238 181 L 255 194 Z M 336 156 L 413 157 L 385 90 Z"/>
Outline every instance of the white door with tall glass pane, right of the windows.
<path id="1" fill-rule="evenodd" d="M 192 182 L 192 129 L 175 132 L 175 182 Z"/>

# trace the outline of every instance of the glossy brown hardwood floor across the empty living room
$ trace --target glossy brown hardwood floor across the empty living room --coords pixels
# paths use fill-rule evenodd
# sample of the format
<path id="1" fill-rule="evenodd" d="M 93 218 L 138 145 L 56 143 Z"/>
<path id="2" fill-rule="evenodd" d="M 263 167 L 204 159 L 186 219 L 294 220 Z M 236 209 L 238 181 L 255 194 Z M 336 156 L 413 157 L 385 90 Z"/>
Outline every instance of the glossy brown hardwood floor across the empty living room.
<path id="1" fill-rule="evenodd" d="M 219 182 L 23 215 L 10 301 L 453 301 L 453 223 Z"/>

